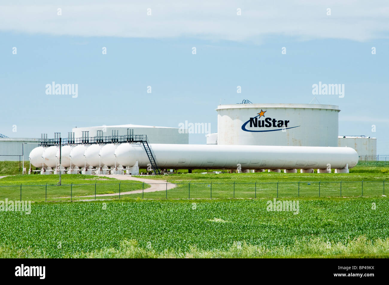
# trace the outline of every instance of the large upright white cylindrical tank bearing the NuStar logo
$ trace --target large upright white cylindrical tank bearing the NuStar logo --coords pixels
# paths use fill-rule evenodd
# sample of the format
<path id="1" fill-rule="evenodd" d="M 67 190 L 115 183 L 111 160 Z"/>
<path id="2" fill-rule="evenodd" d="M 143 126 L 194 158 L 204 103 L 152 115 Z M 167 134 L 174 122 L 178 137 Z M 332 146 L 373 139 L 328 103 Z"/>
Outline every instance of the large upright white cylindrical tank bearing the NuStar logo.
<path id="1" fill-rule="evenodd" d="M 216 111 L 219 145 L 338 146 L 338 106 L 231 104 Z"/>

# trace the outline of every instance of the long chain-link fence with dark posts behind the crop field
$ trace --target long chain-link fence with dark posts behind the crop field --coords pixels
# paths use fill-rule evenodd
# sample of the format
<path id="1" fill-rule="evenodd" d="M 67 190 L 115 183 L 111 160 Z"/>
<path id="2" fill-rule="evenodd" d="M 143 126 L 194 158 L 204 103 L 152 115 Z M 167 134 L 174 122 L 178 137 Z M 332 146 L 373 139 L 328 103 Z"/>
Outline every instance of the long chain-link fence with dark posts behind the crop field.
<path id="1" fill-rule="evenodd" d="M 0 201 L 77 201 L 96 199 L 228 199 L 356 197 L 385 195 L 387 181 L 95 183 L 0 185 Z"/>

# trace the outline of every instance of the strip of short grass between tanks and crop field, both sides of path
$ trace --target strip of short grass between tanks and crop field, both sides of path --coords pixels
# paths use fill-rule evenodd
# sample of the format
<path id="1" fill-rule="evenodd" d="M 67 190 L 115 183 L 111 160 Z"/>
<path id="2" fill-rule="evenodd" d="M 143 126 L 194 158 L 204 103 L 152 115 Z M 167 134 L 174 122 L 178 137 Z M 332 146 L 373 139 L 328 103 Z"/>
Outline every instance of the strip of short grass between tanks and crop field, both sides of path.
<path id="1" fill-rule="evenodd" d="M 381 166 L 361 166 L 380 168 Z M 145 199 L 225 199 L 266 197 L 379 197 L 388 191 L 387 173 L 376 170 L 366 173 L 182 173 L 173 175 L 147 175 L 140 178 L 154 179 L 155 183 L 167 180 L 177 187 L 165 191 L 128 194 L 128 198 Z M 0 179 L 0 199 L 22 199 L 32 201 L 58 201 L 85 199 L 77 196 L 109 194 L 147 189 L 136 181 L 119 181 L 114 178 L 93 175 L 62 175 L 62 185 L 56 185 L 58 175 L 14 175 Z M 363 185 L 362 185 L 363 181 Z M 342 183 L 341 183 L 342 182 Z M 46 186 L 47 184 L 47 186 Z M 72 186 L 70 186 L 72 184 Z M 95 185 L 96 184 L 96 185 Z M 341 185 L 342 184 L 342 185 Z M 386 192 L 387 192 L 386 191 Z M 67 197 L 57 199 L 58 197 Z M 56 199 L 53 199 L 56 198 Z M 117 196 L 105 199 L 118 199 Z"/>

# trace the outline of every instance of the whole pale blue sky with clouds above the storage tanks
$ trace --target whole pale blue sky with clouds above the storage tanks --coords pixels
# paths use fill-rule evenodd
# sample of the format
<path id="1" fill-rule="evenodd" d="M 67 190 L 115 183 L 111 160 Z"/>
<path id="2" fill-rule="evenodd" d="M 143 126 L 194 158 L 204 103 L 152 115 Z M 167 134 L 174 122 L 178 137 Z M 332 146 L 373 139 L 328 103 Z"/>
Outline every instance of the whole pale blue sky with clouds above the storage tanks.
<path id="1" fill-rule="evenodd" d="M 380 9 L 369 10 L 371 4 L 353 11 L 346 5 L 337 9 L 335 2 L 314 6 L 298 1 L 303 4 L 295 3 L 301 7 L 299 13 L 320 16 L 290 19 L 283 15 L 293 5 L 278 10 L 267 4 L 266 15 L 272 16 L 258 23 L 255 11 L 261 7 L 252 8 L 251 2 L 228 2 L 233 16 L 225 19 L 220 16 L 225 5 L 215 12 L 217 16 L 210 16 L 208 10 L 201 14 L 204 7 L 179 6 L 166 12 L 158 2 L 144 7 L 134 3 L 138 9 L 134 15 L 146 14 L 152 7 L 152 24 L 144 24 L 147 16 L 138 22 L 128 16 L 128 24 L 117 11 L 117 17 L 109 10 L 106 15 L 90 12 L 98 6 L 42 2 L 34 10 L 19 2 L 21 6 L 4 6 L 4 14 L 0 12 L 0 133 L 4 135 L 39 137 L 58 131 L 67 136 L 75 126 L 102 124 L 178 127 L 186 120 L 210 123 L 216 132 L 214 109 L 220 102 L 309 103 L 314 98 L 312 84 L 321 81 L 345 84 L 344 98 L 316 96 L 320 103 L 342 110 L 339 134 L 377 137 L 377 154 L 389 154 L 389 5 L 384 2 L 377 2 Z M 60 6 L 62 16 L 56 15 Z M 331 16 L 326 16 L 327 6 L 333 7 Z M 242 16 L 236 15 L 235 7 L 242 7 Z M 361 14 L 363 8 L 366 15 Z M 131 5 L 128 9 L 134 12 Z M 25 10 L 29 14 L 23 14 Z M 80 10 L 85 16 L 77 27 L 75 13 Z M 42 11 L 54 16 L 40 15 Z M 245 15 L 250 17 L 241 26 L 229 26 L 235 17 Z M 114 24 L 106 27 L 109 20 Z M 13 47 L 17 54 L 12 54 Z M 102 54 L 102 47 L 107 54 Z M 286 54 L 281 54 L 282 47 Z M 371 47 L 376 54 L 371 54 Z M 78 97 L 47 95 L 45 86 L 52 81 L 78 84 Z M 147 86 L 152 87 L 151 94 Z M 242 93 L 237 93 L 237 86 L 242 86 Z M 371 132 L 373 124 L 376 132 Z M 205 136 L 190 135 L 189 142 L 205 143 Z"/>

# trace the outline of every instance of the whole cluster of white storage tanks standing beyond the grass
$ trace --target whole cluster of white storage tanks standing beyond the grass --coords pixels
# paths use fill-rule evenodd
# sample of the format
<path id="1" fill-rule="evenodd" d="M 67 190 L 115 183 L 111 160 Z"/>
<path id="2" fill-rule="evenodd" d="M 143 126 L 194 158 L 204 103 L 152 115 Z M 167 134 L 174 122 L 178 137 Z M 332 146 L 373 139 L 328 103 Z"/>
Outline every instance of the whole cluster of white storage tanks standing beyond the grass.
<path id="1" fill-rule="evenodd" d="M 133 124 L 25 139 L 35 144 L 28 149 L 28 173 L 138 174 L 140 168 L 154 174 L 161 169 L 328 173 L 331 168 L 348 173 L 358 156 L 373 159 L 377 152 L 375 138 L 338 135 L 335 105 L 245 102 L 219 105 L 216 112 L 217 133 L 208 134 L 204 145 L 189 145 L 188 132 L 179 128 Z"/>

